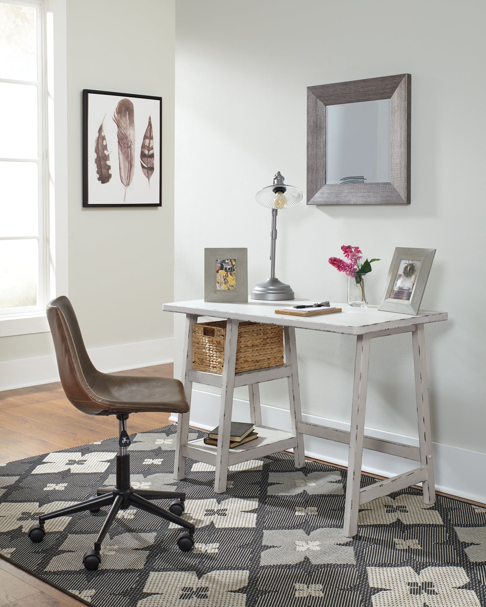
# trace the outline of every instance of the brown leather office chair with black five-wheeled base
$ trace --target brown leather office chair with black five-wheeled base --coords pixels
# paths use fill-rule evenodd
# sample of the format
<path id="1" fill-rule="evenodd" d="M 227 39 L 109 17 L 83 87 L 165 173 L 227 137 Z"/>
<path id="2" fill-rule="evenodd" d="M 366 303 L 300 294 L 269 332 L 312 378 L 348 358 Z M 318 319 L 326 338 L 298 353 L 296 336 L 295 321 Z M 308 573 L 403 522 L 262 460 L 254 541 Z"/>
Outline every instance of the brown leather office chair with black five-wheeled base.
<path id="1" fill-rule="evenodd" d="M 194 547 L 194 525 L 180 518 L 184 512 L 186 494 L 132 489 L 130 454 L 127 453 L 130 437 L 127 434 L 126 421 L 130 413 L 189 411 L 183 384 L 178 379 L 118 376 L 96 370 L 84 347 L 76 314 L 67 297 L 56 297 L 47 305 L 47 319 L 54 340 L 62 388 L 67 398 L 76 409 L 88 415 L 116 415 L 120 437 L 116 455 L 116 486 L 100 487 L 96 490 L 97 497 L 42 514 L 39 524 L 29 530 L 30 539 L 35 543 L 44 539 L 44 523 L 50 518 L 64 517 L 83 510 L 98 512 L 101 507 L 110 506 L 100 535 L 96 538 L 94 550 L 86 552 L 83 558 L 86 569 L 98 569 L 101 562 L 101 543 L 118 510 L 135 506 L 185 527 L 187 531 L 178 536 L 177 544 L 184 552 L 191 550 Z M 165 498 L 172 500 L 168 510 L 149 501 Z"/>

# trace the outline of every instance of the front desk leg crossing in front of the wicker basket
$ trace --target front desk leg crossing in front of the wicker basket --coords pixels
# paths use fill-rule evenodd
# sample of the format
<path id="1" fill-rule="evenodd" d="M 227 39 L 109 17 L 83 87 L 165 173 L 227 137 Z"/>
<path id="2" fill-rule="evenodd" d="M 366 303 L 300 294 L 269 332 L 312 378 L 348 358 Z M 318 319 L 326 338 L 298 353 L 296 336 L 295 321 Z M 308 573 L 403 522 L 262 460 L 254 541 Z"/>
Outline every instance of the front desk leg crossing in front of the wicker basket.
<path id="1" fill-rule="evenodd" d="M 224 342 L 223 383 L 221 385 L 220 423 L 218 447 L 216 451 L 216 472 L 214 490 L 226 491 L 228 477 L 229 436 L 231 435 L 231 413 L 235 388 L 236 344 L 238 340 L 238 320 L 226 322 L 226 341 Z"/>

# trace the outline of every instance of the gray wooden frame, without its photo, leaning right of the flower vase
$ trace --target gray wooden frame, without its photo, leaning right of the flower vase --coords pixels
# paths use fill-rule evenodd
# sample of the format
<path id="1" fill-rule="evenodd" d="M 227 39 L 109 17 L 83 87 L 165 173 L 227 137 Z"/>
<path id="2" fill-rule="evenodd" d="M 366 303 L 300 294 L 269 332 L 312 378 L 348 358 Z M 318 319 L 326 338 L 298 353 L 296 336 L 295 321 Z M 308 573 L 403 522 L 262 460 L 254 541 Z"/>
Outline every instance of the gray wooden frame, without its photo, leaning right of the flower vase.
<path id="1" fill-rule="evenodd" d="M 425 286 L 427 285 L 428 275 L 434 260 L 436 249 L 410 249 L 397 246 L 393 254 L 390 270 L 386 277 L 385 294 L 378 310 L 385 312 L 398 312 L 399 314 L 414 314 L 420 310 L 422 297 L 424 296 Z M 395 280 L 398 274 L 400 261 L 402 259 L 420 261 L 419 275 L 416 278 L 410 300 L 390 299 Z"/>

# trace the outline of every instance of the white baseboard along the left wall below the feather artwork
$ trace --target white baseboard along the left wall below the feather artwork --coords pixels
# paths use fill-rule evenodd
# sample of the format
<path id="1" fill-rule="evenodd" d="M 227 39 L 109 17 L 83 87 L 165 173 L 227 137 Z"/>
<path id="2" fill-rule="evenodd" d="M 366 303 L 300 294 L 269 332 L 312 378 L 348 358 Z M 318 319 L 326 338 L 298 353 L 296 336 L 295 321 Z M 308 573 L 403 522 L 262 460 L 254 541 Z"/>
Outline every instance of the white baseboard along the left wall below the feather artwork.
<path id="1" fill-rule="evenodd" d="M 150 367 L 174 361 L 172 337 L 92 348 L 88 354 L 93 365 L 104 373 Z M 59 381 L 54 354 L 0 362 L 0 391 L 25 388 L 29 385 L 50 384 Z"/>

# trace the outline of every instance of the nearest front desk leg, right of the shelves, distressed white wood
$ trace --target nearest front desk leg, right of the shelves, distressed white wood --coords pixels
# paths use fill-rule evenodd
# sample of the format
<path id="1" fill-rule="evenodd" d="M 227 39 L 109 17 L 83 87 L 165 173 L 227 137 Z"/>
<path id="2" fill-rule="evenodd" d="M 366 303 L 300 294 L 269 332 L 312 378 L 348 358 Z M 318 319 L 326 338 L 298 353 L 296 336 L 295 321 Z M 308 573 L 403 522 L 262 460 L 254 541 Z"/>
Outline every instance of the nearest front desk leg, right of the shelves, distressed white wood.
<path id="1" fill-rule="evenodd" d="M 368 364 L 370 362 L 370 336 L 356 338 L 354 362 L 353 410 L 351 411 L 351 436 L 349 437 L 348 481 L 346 483 L 346 505 L 344 510 L 344 535 L 353 537 L 358 530 L 359 490 L 363 435 L 365 432 L 366 388 L 368 387 Z"/>

